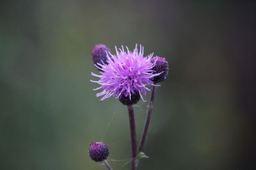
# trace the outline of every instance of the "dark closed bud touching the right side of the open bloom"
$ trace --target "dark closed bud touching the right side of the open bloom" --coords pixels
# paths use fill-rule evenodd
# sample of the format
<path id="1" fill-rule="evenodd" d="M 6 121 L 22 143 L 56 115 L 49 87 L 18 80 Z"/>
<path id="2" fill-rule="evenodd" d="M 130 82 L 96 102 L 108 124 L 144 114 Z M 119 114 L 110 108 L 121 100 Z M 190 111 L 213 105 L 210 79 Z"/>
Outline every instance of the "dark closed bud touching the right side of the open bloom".
<path id="1" fill-rule="evenodd" d="M 152 78 L 152 81 L 154 83 L 159 83 L 161 81 L 164 81 L 169 71 L 168 61 L 164 57 L 155 56 L 155 57 L 152 57 L 151 62 L 156 63 L 155 66 L 152 68 L 152 70 L 154 70 L 156 74 L 161 73 L 157 76 L 154 76 Z"/>

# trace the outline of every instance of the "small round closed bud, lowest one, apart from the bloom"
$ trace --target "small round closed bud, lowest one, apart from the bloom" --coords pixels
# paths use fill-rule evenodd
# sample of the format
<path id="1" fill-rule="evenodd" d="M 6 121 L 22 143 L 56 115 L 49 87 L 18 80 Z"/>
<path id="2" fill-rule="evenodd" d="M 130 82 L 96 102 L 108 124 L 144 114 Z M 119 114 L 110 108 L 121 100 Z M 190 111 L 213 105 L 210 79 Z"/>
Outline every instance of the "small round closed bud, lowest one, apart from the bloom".
<path id="1" fill-rule="evenodd" d="M 89 155 L 95 162 L 106 160 L 109 155 L 108 146 L 102 142 L 93 142 L 89 147 Z"/>

